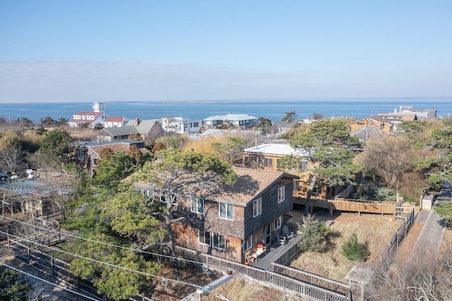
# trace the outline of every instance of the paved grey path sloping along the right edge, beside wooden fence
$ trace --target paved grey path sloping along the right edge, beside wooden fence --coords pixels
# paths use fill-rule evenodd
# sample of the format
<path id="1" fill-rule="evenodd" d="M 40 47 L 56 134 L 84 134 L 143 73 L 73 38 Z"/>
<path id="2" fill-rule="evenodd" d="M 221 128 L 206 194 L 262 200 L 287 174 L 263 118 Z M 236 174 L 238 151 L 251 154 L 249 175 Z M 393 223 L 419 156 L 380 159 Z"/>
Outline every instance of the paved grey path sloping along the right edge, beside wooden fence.
<path id="1" fill-rule="evenodd" d="M 440 203 L 447 201 L 451 201 L 451 182 L 444 182 L 433 206 L 439 206 Z M 434 208 L 432 208 L 415 247 L 412 249 L 410 260 L 419 258 L 422 254 L 438 256 L 445 231 L 446 221 L 436 214 Z"/>

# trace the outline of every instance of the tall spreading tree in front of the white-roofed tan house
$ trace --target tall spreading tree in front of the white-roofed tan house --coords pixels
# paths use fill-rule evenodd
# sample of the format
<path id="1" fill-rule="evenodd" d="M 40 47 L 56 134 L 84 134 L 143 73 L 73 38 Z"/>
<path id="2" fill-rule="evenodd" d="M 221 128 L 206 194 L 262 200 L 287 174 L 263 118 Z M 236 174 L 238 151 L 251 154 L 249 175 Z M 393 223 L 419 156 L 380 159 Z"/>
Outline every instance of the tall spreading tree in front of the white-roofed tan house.
<path id="1" fill-rule="evenodd" d="M 330 186 L 352 183 L 355 175 L 362 170 L 354 163 L 353 148 L 359 146 L 355 136 L 350 136 L 347 126 L 340 119 L 323 119 L 309 126 L 306 133 L 290 138 L 290 146 L 309 161 L 309 189 L 304 213 L 309 213 L 312 191 L 319 184 Z M 287 167 L 281 168 L 282 170 Z"/>

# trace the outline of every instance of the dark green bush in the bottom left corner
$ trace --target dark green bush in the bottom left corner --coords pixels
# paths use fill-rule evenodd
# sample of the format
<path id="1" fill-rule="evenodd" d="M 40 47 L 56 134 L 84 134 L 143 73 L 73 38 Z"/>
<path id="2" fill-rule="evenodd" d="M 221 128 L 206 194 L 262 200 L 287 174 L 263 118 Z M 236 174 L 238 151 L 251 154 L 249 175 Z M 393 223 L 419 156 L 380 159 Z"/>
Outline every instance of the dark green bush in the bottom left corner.
<path id="1" fill-rule="evenodd" d="M 0 263 L 0 300 L 26 301 L 30 289 L 18 271 Z"/>

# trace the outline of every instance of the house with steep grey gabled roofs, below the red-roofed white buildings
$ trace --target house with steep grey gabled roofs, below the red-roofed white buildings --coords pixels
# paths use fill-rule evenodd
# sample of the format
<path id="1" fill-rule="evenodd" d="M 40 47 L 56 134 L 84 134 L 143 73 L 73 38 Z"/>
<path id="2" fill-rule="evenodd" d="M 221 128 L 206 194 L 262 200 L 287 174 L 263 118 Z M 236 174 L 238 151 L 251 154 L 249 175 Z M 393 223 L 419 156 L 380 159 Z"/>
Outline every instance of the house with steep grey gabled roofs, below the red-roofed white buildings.
<path id="1" fill-rule="evenodd" d="M 101 129 L 97 134 L 97 141 L 114 141 L 129 138 L 155 139 L 164 134 L 165 131 L 158 119 L 140 120 L 137 118 L 129 120 L 125 126 Z"/>

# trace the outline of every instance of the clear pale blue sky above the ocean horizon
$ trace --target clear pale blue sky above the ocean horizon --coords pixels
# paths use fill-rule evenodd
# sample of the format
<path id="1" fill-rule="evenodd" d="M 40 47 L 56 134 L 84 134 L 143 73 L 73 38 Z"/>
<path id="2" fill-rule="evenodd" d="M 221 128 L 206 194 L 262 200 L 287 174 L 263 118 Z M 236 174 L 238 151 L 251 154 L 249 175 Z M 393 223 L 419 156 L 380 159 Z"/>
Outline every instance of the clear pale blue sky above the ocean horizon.
<path id="1" fill-rule="evenodd" d="M 0 1 L 0 102 L 452 95 L 452 1 Z"/>

